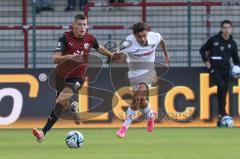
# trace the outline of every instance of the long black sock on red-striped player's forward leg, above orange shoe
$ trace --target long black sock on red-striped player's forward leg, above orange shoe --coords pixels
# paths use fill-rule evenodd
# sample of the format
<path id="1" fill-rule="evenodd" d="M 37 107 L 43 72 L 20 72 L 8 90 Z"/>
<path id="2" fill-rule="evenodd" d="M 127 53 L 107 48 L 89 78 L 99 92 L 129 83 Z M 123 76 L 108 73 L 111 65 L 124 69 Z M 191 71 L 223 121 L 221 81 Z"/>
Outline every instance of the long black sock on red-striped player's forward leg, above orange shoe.
<path id="1" fill-rule="evenodd" d="M 53 125 L 58 121 L 63 111 L 63 106 L 61 104 L 56 104 L 55 109 L 48 116 L 48 120 L 44 128 L 42 129 L 44 135 L 53 127 Z"/>

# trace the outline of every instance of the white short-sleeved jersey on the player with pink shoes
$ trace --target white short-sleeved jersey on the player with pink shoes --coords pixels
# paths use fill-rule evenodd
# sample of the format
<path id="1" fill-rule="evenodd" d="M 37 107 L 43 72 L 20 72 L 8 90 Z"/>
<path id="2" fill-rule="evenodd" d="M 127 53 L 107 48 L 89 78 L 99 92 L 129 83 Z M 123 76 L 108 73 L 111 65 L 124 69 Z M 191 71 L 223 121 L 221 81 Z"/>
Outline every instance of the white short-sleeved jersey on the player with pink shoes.
<path id="1" fill-rule="evenodd" d="M 148 32 L 147 45 L 141 46 L 133 34 L 127 36 L 120 52 L 125 53 L 128 57 L 129 78 L 144 75 L 151 67 L 154 68 L 155 51 L 161 40 L 162 36 L 159 33 Z"/>

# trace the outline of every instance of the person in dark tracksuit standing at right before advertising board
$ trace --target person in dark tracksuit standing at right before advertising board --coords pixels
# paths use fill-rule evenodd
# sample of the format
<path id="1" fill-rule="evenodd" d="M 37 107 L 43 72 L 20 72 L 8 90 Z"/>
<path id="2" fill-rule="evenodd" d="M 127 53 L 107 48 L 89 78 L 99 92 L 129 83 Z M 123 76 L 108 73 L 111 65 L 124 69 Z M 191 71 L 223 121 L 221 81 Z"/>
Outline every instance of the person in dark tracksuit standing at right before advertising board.
<path id="1" fill-rule="evenodd" d="M 217 85 L 218 100 L 218 123 L 224 116 L 228 115 L 225 110 L 226 95 L 230 78 L 230 60 L 239 65 L 237 43 L 232 37 L 232 22 L 224 20 L 221 22 L 221 31 L 210 37 L 201 47 L 200 54 L 203 62 L 209 70 L 210 78 Z"/>

